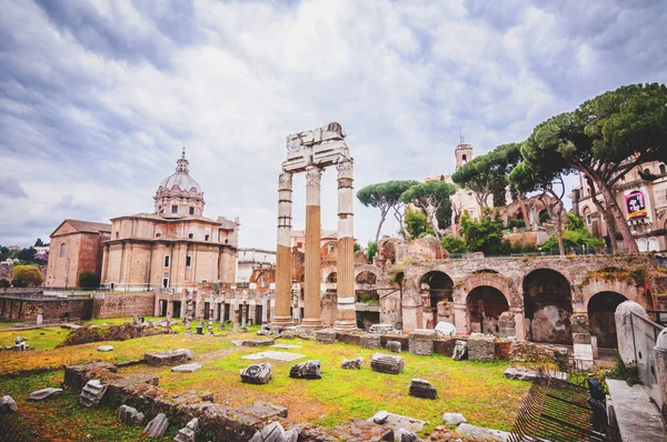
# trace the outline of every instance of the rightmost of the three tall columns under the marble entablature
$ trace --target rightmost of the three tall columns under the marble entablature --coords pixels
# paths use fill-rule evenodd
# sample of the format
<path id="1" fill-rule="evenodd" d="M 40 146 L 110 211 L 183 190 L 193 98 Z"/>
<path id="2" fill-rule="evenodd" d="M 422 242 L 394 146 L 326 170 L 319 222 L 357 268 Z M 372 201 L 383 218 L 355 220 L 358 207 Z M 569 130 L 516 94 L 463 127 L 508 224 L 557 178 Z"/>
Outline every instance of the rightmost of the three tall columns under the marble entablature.
<path id="1" fill-rule="evenodd" d="M 355 310 L 355 195 L 352 192 L 354 162 L 340 161 L 338 170 L 338 278 L 336 292 L 338 305 L 334 327 L 339 330 L 357 328 Z"/>

